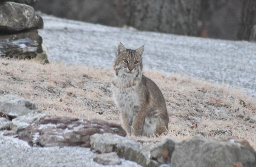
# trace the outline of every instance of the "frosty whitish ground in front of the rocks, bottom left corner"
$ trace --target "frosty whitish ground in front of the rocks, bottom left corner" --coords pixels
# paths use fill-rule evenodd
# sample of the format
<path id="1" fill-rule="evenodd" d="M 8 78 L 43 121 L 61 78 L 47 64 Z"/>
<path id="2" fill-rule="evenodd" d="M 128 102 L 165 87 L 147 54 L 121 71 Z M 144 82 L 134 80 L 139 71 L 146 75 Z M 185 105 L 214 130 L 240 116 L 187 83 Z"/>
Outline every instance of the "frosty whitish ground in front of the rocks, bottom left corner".
<path id="1" fill-rule="evenodd" d="M 18 138 L 3 136 L 0 132 L 0 166 L 1 167 L 101 167 L 93 161 L 94 153 L 83 147 L 30 147 Z M 139 167 L 135 162 L 122 160 L 121 165 L 104 165 L 105 167 Z"/>

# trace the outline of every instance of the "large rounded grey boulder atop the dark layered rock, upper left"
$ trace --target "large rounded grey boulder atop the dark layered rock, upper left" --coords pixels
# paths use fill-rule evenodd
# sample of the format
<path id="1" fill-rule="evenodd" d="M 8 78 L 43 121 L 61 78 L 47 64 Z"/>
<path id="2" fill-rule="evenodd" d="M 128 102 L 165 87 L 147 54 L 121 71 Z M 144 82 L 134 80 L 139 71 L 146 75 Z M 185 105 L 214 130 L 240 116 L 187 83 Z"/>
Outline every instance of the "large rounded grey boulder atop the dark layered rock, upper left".
<path id="1" fill-rule="evenodd" d="M 43 19 L 31 6 L 15 2 L 0 2 L 0 32 L 2 34 L 43 28 Z"/>

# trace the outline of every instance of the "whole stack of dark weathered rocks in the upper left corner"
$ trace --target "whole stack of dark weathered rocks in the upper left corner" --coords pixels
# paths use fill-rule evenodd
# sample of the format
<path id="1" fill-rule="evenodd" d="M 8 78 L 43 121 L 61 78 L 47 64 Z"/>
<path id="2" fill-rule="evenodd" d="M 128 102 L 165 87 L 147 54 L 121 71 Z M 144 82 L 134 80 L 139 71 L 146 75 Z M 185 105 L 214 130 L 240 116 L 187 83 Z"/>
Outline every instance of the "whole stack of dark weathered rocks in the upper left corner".
<path id="1" fill-rule="evenodd" d="M 43 19 L 35 14 L 33 7 L 26 5 L 37 1 L 0 1 L 1 57 L 31 59 L 43 52 L 42 37 L 37 31 L 43 28 Z"/>

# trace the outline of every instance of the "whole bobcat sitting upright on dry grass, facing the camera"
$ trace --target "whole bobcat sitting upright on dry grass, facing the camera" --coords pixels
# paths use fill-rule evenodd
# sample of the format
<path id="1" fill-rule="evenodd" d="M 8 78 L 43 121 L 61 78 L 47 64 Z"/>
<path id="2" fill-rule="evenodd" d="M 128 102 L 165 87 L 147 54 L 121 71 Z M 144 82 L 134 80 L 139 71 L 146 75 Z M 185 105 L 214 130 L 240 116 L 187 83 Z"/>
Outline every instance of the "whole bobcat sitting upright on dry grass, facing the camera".
<path id="1" fill-rule="evenodd" d="M 131 135 L 154 136 L 168 131 L 169 117 L 163 94 L 157 85 L 142 74 L 142 53 L 117 48 L 112 91 L 121 110 L 123 127 Z"/>

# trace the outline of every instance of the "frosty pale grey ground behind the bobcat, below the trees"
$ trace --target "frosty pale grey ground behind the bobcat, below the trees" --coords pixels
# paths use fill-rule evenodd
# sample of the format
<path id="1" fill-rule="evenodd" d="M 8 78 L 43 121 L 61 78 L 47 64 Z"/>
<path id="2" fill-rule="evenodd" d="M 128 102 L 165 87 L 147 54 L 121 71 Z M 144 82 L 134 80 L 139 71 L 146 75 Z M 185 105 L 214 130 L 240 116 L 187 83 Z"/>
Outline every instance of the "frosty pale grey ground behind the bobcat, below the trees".
<path id="1" fill-rule="evenodd" d="M 116 47 L 145 45 L 145 69 L 225 83 L 256 96 L 256 43 L 115 28 L 43 16 L 50 61 L 111 67 Z"/>

